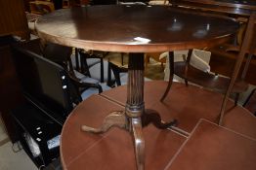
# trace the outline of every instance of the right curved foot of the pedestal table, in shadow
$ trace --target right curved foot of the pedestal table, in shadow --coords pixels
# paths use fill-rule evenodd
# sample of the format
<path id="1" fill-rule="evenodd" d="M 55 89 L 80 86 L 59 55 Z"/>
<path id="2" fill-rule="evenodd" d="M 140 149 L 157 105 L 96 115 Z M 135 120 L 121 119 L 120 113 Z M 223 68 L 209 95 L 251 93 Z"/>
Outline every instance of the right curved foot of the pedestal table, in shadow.
<path id="1" fill-rule="evenodd" d="M 154 110 L 146 110 L 145 114 L 142 117 L 143 126 L 147 126 L 150 122 L 153 123 L 153 125 L 160 129 L 166 129 L 168 127 L 171 127 L 173 125 L 177 125 L 178 121 L 177 119 L 173 119 L 170 122 L 163 122 L 161 120 L 160 115 L 154 111 Z"/>

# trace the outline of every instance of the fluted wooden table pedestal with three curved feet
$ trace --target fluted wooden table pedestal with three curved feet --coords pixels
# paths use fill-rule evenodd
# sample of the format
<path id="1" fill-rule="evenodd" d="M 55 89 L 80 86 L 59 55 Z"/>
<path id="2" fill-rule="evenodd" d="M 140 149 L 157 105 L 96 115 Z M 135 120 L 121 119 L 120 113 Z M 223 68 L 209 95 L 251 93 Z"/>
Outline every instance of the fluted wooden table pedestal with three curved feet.
<path id="1" fill-rule="evenodd" d="M 175 125 L 177 120 L 163 122 L 156 111 L 145 110 L 144 104 L 144 53 L 130 53 L 128 64 L 127 101 L 125 111 L 110 113 L 100 128 L 82 125 L 82 130 L 103 133 L 112 126 L 124 128 L 134 137 L 137 169 L 145 166 L 145 140 L 142 128 L 152 122 L 157 128 Z"/>

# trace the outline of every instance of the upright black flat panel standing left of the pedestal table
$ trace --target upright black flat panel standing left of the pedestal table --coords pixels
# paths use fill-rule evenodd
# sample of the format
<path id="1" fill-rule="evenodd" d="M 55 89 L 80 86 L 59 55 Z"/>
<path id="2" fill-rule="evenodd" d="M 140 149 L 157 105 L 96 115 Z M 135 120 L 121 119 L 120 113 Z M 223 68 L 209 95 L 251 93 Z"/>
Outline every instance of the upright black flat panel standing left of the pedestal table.
<path id="1" fill-rule="evenodd" d="M 19 44 L 12 49 L 22 92 L 29 102 L 63 123 L 81 97 L 61 65 L 29 51 L 35 43 Z"/>

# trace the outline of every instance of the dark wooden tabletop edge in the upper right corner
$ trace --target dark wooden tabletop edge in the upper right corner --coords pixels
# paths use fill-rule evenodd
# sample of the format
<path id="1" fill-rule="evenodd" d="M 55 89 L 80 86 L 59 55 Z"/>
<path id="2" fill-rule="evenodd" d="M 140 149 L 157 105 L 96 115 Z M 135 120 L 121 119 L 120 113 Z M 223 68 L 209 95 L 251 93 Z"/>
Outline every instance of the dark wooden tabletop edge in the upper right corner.
<path id="1" fill-rule="evenodd" d="M 249 16 L 256 10 L 256 3 L 251 0 L 172 0 L 171 3 L 174 6 L 189 7 L 203 11 L 234 14 L 239 16 Z"/>

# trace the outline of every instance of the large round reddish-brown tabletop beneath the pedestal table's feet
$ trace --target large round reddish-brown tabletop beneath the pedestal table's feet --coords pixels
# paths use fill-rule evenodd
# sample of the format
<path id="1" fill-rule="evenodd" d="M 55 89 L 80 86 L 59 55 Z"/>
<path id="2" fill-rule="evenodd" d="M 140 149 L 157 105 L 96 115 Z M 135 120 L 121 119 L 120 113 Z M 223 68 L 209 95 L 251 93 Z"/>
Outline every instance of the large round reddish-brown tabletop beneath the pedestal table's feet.
<path id="1" fill-rule="evenodd" d="M 192 132 L 199 119 L 217 122 L 223 96 L 192 85 L 187 87 L 183 84 L 174 84 L 166 100 L 161 103 L 159 98 L 166 84 L 165 82 L 146 83 L 146 109 L 156 110 L 165 121 L 173 117 L 177 118 L 180 122 L 178 128 L 188 133 L 189 140 L 200 140 L 201 143 L 205 142 L 205 145 L 201 146 L 201 143 L 196 144 L 196 142 L 192 141 L 194 145 L 192 149 L 191 145 L 182 147 L 184 144 L 188 146 L 191 143 L 187 139 L 188 136 L 177 131 L 160 130 L 153 125 L 149 125 L 143 129 L 146 139 L 146 170 L 167 167 L 179 169 L 180 166 L 175 165 L 175 162 L 183 161 L 184 159 L 188 167 L 190 167 L 192 160 L 190 157 L 188 159 L 189 155 L 183 155 L 179 150 L 186 148 L 186 151 L 193 153 L 196 150 L 196 146 L 198 148 L 196 153 L 198 157 L 192 158 L 195 158 L 194 160 L 196 161 L 201 160 L 202 164 L 206 163 L 202 165 L 203 168 L 201 169 L 208 170 L 211 167 L 222 166 L 222 163 L 225 163 L 224 167 L 233 167 L 233 160 L 235 165 L 242 165 L 245 162 L 249 164 L 248 167 L 255 167 L 255 161 L 252 161 L 252 159 L 241 159 L 241 162 L 239 162 L 236 161 L 236 156 L 230 157 L 233 147 L 235 147 L 237 154 L 244 149 L 243 155 L 250 158 L 252 154 L 248 150 L 251 149 L 253 152 L 255 150 L 254 139 L 256 139 L 256 131 L 254 129 L 256 127 L 256 119 L 247 110 L 241 107 L 234 107 L 234 103 L 229 101 L 229 112 L 224 119 L 224 126 L 229 129 L 228 132 L 223 130 L 223 127 L 212 125 L 209 122 L 206 125 L 197 125 L 199 128 L 196 129 L 199 130 Z M 94 95 L 76 107 L 69 118 L 66 119 L 62 132 L 61 154 L 64 169 L 136 169 L 132 137 L 129 132 L 119 128 L 112 128 L 107 133 L 97 135 L 80 130 L 82 124 L 88 124 L 93 127 L 101 125 L 108 113 L 123 110 L 125 101 L 126 85 L 123 85 L 105 91 L 101 95 Z M 202 129 L 205 129 L 205 132 Z M 236 133 L 242 134 L 238 135 L 238 140 L 236 140 Z M 214 143 L 216 145 L 213 145 Z M 245 147 L 244 145 L 247 144 L 250 144 L 250 146 Z M 227 145 L 231 147 L 227 148 Z M 213 154 L 212 151 L 218 152 L 222 147 L 227 148 L 227 154 Z M 223 162 L 215 161 L 216 164 L 211 164 L 211 161 L 204 161 L 203 154 L 208 153 L 208 148 L 212 149 L 210 150 L 211 152 L 209 151 L 208 156 L 213 160 L 225 158 L 225 155 L 229 155 L 229 158 L 226 158 L 226 161 Z M 178 153 L 183 156 L 179 158 L 180 156 L 176 155 Z M 175 157 L 177 157 L 177 160 L 174 160 L 176 159 Z"/>

